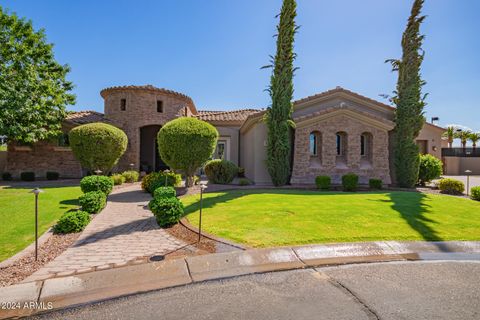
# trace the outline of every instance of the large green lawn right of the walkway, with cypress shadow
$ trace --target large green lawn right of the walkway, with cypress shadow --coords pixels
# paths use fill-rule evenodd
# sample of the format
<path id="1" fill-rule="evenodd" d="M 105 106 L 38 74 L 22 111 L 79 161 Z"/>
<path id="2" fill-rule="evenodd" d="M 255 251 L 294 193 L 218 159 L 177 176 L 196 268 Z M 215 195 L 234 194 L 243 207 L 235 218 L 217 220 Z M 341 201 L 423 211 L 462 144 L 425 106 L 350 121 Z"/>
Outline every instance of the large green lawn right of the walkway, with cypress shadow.
<path id="1" fill-rule="evenodd" d="M 198 226 L 199 196 L 182 199 Z M 207 193 L 205 231 L 253 247 L 374 240 L 480 240 L 480 202 L 417 192 Z"/>

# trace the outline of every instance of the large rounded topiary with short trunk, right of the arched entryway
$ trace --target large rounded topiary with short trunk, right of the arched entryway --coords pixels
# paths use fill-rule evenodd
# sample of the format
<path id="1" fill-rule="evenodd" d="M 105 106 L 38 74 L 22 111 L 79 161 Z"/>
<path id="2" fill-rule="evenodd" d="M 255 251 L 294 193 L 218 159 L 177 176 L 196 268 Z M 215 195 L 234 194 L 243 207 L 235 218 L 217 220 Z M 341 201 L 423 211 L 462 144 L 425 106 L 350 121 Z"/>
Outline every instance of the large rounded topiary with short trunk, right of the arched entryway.
<path id="1" fill-rule="evenodd" d="M 212 157 L 217 140 L 214 126 L 187 117 L 165 124 L 157 137 L 162 160 L 170 168 L 183 171 L 187 187 L 193 186 L 195 172 Z"/>

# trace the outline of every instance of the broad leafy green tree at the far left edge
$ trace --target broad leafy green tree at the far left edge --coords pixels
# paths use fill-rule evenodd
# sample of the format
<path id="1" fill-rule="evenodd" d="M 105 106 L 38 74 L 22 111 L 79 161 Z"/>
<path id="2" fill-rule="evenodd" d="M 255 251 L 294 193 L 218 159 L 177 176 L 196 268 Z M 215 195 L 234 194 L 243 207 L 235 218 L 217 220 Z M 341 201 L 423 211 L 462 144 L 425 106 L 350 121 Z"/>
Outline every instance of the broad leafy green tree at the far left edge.
<path id="1" fill-rule="evenodd" d="M 55 61 L 44 30 L 0 7 L 0 135 L 33 143 L 57 136 L 75 103 L 70 68 Z"/>

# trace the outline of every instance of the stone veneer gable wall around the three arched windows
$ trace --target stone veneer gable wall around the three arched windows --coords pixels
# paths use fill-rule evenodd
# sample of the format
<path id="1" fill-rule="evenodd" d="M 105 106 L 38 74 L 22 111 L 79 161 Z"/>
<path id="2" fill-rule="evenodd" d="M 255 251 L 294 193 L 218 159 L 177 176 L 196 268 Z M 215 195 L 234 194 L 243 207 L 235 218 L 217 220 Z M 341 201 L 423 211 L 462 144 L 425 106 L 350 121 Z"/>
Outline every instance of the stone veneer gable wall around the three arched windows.
<path id="1" fill-rule="evenodd" d="M 310 155 L 310 133 L 321 133 L 321 164 L 312 161 Z M 336 133 L 348 135 L 346 167 L 336 165 Z M 362 166 L 360 155 L 360 136 L 364 132 L 372 134 L 371 166 Z M 313 184 L 315 177 L 327 175 L 332 183 L 341 183 L 342 175 L 353 172 L 360 176 L 360 183 L 368 183 L 370 178 L 382 179 L 390 184 L 388 131 L 380 129 L 345 115 L 339 115 L 306 126 L 297 124 L 295 130 L 295 149 L 292 183 Z"/>

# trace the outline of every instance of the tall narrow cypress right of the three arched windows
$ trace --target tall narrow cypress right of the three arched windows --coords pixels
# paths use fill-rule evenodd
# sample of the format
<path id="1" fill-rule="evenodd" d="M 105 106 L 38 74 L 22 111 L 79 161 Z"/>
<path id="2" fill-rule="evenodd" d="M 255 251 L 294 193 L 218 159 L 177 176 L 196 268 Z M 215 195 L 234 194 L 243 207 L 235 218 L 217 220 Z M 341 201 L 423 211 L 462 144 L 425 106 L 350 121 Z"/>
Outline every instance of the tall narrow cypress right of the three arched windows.
<path id="1" fill-rule="evenodd" d="M 415 0 L 410 18 L 402 37 L 401 60 L 387 60 L 398 72 L 398 81 L 393 102 L 396 105 L 394 129 L 394 165 L 397 184 L 411 188 L 418 181 L 420 164 L 419 149 L 415 139 L 420 133 L 425 117 L 423 109 L 426 95 L 422 95 L 420 68 L 424 58 L 420 34 L 420 25 L 425 16 L 421 16 L 424 0 Z"/>

